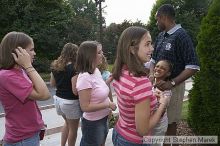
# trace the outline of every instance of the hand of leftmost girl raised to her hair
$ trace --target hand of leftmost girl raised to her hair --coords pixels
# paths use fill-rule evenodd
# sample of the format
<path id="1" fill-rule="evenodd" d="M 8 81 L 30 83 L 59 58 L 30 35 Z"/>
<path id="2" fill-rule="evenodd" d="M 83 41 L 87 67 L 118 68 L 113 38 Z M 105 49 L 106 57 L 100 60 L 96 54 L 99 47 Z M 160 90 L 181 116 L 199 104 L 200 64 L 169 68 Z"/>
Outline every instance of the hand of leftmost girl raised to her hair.
<path id="1" fill-rule="evenodd" d="M 15 53 L 12 53 L 12 55 L 14 57 L 15 62 L 18 65 L 22 66 L 23 68 L 27 68 L 27 67 L 32 66 L 31 65 L 31 57 L 25 49 L 18 47 L 15 49 Z"/>

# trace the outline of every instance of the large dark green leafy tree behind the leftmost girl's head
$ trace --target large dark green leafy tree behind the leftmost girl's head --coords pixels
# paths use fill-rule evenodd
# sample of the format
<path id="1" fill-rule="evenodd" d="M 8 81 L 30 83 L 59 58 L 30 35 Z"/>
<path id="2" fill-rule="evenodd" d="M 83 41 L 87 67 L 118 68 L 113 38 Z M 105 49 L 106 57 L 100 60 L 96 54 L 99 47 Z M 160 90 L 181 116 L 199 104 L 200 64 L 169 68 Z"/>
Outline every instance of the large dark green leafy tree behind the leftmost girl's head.
<path id="1" fill-rule="evenodd" d="M 1 0 L 0 36 L 23 31 L 33 37 L 38 56 L 51 59 L 66 38 L 72 11 L 62 0 Z"/>

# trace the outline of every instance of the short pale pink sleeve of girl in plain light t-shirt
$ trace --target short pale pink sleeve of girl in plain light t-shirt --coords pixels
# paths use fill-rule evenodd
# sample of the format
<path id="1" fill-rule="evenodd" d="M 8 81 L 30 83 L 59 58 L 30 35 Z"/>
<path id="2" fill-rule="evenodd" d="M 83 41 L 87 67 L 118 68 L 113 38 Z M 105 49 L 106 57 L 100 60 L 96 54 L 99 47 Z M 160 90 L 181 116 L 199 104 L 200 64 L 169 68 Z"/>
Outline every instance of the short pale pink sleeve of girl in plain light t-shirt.
<path id="1" fill-rule="evenodd" d="M 89 73 L 79 74 L 76 83 L 77 91 L 92 88 L 92 78 Z"/>

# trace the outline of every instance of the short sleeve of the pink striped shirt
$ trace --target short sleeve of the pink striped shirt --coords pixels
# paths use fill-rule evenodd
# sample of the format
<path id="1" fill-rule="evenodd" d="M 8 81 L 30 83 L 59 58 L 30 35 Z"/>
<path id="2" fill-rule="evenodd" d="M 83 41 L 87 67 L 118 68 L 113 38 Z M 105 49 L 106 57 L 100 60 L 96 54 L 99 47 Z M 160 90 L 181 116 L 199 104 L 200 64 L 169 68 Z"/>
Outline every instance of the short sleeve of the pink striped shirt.
<path id="1" fill-rule="evenodd" d="M 132 92 L 136 104 L 150 98 L 152 95 L 152 84 L 148 78 L 141 78 L 136 82 Z"/>

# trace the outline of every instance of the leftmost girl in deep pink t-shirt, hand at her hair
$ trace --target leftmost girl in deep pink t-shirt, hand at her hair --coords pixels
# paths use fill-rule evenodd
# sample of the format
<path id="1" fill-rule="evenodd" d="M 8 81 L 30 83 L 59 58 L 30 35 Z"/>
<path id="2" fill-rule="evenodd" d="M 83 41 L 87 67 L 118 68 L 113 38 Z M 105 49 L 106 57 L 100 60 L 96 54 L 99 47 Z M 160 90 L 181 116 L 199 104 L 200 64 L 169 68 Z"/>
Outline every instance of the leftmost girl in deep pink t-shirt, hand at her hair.
<path id="1" fill-rule="evenodd" d="M 36 100 L 50 92 L 32 66 L 33 39 L 23 32 L 10 32 L 0 45 L 0 101 L 5 111 L 4 146 L 39 146 L 44 122 Z"/>

